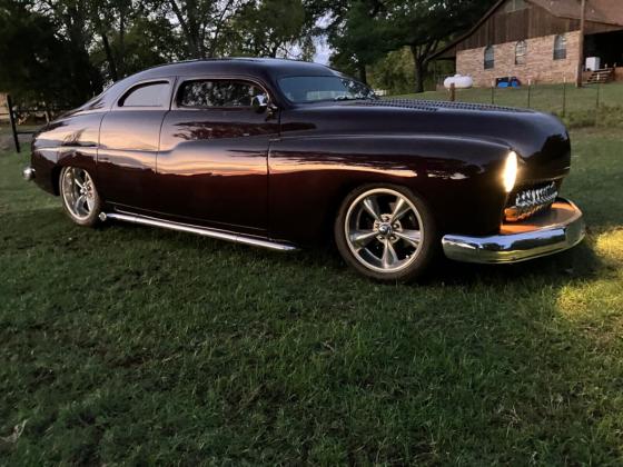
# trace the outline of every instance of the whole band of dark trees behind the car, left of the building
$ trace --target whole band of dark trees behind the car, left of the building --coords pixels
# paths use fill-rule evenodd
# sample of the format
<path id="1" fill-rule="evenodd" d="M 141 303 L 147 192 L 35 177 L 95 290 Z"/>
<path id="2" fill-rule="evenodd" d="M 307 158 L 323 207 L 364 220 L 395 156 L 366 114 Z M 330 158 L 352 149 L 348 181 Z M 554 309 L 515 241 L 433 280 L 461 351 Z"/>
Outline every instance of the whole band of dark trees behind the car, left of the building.
<path id="1" fill-rule="evenodd" d="M 324 36 L 335 68 L 364 82 L 369 73 L 374 86 L 398 92 L 415 81 L 421 91 L 432 53 L 492 1 L 0 0 L 0 87 L 31 101 L 77 105 L 175 60 L 310 59 Z"/>

